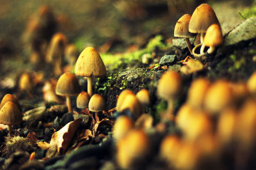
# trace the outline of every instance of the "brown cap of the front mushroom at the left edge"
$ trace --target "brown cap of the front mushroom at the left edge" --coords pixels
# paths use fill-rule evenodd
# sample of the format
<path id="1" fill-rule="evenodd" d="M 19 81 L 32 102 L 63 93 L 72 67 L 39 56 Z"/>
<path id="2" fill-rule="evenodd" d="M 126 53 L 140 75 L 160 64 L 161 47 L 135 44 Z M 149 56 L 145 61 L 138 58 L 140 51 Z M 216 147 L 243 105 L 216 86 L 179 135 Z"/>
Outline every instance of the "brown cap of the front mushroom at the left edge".
<path id="1" fill-rule="evenodd" d="M 4 125 L 17 125 L 22 122 L 22 114 L 16 104 L 8 101 L 0 110 L 0 123 Z"/>

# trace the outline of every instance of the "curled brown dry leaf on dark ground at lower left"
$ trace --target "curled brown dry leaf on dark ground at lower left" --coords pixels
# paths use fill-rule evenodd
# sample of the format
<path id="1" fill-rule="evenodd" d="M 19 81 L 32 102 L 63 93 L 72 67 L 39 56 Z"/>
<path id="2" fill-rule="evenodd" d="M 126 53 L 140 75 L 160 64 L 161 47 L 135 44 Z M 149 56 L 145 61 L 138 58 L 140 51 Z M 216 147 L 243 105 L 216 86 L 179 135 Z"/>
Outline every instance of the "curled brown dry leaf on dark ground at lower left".
<path id="1" fill-rule="evenodd" d="M 79 127 L 80 123 L 81 118 L 69 122 L 59 131 L 52 134 L 50 145 L 57 145 L 58 152 L 64 153 L 70 145 L 73 136 L 76 134 L 77 127 Z"/>

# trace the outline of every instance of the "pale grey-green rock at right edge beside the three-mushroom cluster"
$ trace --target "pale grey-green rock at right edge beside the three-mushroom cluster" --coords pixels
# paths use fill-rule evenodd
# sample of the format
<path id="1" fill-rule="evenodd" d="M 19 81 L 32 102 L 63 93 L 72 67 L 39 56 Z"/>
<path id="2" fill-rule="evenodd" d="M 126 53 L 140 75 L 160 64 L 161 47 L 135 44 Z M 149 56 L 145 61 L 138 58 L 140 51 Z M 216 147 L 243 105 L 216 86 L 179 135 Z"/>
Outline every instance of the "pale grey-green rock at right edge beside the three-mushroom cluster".
<path id="1" fill-rule="evenodd" d="M 256 17 L 248 18 L 228 32 L 225 45 L 234 45 L 240 41 L 256 38 Z"/>

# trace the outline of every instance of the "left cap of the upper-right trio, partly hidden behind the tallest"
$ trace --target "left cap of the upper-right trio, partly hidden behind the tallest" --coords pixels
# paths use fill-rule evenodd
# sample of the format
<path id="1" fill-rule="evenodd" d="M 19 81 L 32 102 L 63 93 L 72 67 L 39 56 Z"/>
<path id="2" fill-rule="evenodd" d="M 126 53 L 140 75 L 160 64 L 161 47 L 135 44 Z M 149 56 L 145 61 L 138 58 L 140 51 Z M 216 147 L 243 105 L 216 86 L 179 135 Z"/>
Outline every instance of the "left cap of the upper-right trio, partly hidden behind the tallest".
<path id="1" fill-rule="evenodd" d="M 174 36 L 179 38 L 191 38 L 195 35 L 188 31 L 191 15 L 185 14 L 179 18 L 174 27 Z"/>

